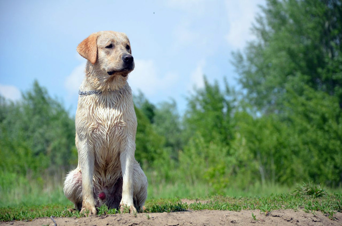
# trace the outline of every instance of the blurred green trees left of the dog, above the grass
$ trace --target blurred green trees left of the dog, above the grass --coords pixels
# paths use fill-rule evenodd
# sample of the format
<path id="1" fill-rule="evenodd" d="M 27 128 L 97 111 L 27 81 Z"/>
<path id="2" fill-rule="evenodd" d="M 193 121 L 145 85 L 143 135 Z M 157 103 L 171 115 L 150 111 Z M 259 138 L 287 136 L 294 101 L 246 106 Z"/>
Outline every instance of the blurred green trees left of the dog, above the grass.
<path id="1" fill-rule="evenodd" d="M 74 119 L 37 81 L 22 100 L 1 100 L 2 169 L 34 176 L 46 169 L 64 172 L 75 164 Z"/>

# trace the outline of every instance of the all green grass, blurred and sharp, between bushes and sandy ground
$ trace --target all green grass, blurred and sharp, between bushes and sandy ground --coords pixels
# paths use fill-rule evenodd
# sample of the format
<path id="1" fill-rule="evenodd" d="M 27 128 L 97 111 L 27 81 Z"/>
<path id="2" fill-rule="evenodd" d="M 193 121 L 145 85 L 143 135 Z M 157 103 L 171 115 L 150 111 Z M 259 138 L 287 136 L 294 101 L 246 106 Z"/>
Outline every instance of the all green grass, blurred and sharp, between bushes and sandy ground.
<path id="1" fill-rule="evenodd" d="M 56 183 L 53 187 L 37 186 L 35 183 L 20 186 L 0 186 L 0 221 L 32 220 L 36 217 L 81 217 L 79 211 L 70 212 L 73 205 L 63 194 L 63 187 Z M 9 183 L 8 183 L 9 184 Z M 307 213 L 320 211 L 334 219 L 336 212 L 342 212 L 341 189 L 323 189 L 311 182 L 297 186 L 295 189 L 279 185 L 254 184 L 247 189 L 227 189 L 224 195 L 213 195 L 208 185 L 172 184 L 161 186 L 150 184 L 146 200 L 146 217 L 148 213 L 176 212 L 186 210 L 260 210 L 268 215 L 277 209 L 303 210 Z M 292 190 L 292 192 L 291 192 Z M 158 193 L 159 191 L 159 193 Z M 178 193 L 176 192 L 178 191 Z M 273 193 L 273 194 L 272 194 Z M 16 196 L 16 194 L 20 194 Z M 13 198 L 16 197 L 16 198 Z M 180 197 L 197 200 L 184 203 Z M 198 200 L 203 200 L 198 201 Z M 44 203 L 44 205 L 41 205 Z M 98 208 L 98 215 L 118 214 L 119 210 Z"/>

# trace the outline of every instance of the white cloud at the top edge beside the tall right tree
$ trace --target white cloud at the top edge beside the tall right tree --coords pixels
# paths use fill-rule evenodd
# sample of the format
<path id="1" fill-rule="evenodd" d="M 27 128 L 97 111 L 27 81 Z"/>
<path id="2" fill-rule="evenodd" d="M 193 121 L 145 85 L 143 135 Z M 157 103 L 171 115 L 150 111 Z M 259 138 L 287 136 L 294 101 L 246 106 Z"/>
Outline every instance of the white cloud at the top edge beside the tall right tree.
<path id="1" fill-rule="evenodd" d="M 225 38 L 234 48 L 242 48 L 246 41 L 254 38 L 250 28 L 254 17 L 259 12 L 258 4 L 264 3 L 264 0 L 250 1 L 230 1 L 226 0 L 227 17 L 229 31 Z"/>

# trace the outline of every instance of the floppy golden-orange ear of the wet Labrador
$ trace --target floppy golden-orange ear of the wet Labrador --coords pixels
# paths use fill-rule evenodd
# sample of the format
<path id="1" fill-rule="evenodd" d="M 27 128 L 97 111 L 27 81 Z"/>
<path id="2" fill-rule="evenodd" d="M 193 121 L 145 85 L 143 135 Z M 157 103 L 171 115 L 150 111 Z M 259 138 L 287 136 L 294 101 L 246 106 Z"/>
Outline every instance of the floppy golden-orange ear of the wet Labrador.
<path id="1" fill-rule="evenodd" d="M 76 48 L 77 52 L 92 64 L 96 63 L 97 58 L 97 37 L 96 33 L 89 35 Z"/>

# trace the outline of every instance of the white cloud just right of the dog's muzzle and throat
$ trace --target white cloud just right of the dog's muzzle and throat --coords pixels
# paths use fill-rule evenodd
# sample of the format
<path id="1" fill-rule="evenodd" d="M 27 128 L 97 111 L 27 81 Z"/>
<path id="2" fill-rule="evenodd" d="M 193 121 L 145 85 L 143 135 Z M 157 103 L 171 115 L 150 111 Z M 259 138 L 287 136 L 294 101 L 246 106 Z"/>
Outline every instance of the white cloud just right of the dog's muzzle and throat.
<path id="1" fill-rule="evenodd" d="M 157 93 L 168 95 L 176 85 L 179 76 L 172 72 L 158 74 L 153 60 L 134 59 L 135 69 L 129 75 L 128 82 L 132 90 L 141 90 L 147 97 Z"/>

